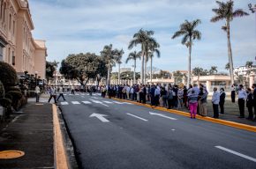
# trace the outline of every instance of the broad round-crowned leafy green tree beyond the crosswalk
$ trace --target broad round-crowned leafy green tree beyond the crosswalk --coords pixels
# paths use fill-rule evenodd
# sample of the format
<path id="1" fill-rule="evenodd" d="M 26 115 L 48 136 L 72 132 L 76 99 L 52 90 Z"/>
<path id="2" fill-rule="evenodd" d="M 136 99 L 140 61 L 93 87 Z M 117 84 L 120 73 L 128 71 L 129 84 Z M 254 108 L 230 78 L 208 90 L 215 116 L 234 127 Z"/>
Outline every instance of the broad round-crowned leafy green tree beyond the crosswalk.
<path id="1" fill-rule="evenodd" d="M 68 55 L 61 63 L 60 73 L 64 77 L 76 79 L 80 84 L 87 84 L 90 78 L 106 76 L 106 62 L 101 56 L 87 53 Z"/>

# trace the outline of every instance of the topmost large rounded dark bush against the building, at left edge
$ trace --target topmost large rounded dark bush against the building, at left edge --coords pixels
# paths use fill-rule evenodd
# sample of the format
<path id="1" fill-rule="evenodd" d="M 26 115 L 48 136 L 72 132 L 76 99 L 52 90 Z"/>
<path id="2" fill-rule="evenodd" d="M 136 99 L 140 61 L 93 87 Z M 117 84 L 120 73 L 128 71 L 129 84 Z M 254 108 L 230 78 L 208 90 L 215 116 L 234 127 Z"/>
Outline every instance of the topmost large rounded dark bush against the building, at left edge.
<path id="1" fill-rule="evenodd" d="M 19 83 L 16 70 L 6 62 L 0 62 L 0 81 L 2 81 L 4 87 L 14 86 Z"/>

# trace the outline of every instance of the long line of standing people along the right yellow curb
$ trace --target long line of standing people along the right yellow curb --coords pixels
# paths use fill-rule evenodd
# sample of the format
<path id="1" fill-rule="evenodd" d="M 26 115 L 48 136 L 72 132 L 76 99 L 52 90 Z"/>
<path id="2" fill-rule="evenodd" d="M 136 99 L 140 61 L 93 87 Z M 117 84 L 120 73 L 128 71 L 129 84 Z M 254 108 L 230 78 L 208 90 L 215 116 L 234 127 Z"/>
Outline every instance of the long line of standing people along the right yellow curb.
<path id="1" fill-rule="evenodd" d="M 184 85 L 160 85 L 160 84 L 133 84 L 130 85 L 109 85 L 99 86 L 98 91 L 102 92 L 102 97 L 115 97 L 118 99 L 130 99 L 139 103 L 149 103 L 152 107 L 166 107 L 168 109 L 188 108 L 191 118 L 196 115 L 207 116 L 207 87 L 203 84 L 190 84 L 187 88 Z M 256 84 L 252 84 L 252 89 L 244 89 L 243 84 L 235 85 L 231 88 L 231 102 L 237 103 L 239 107 L 238 118 L 245 118 L 245 107 L 248 109 L 246 119 L 256 121 Z M 225 114 L 226 92 L 224 88 L 219 91 L 215 87 L 211 97 L 214 118 Z M 254 112 L 254 114 L 253 114 Z"/>

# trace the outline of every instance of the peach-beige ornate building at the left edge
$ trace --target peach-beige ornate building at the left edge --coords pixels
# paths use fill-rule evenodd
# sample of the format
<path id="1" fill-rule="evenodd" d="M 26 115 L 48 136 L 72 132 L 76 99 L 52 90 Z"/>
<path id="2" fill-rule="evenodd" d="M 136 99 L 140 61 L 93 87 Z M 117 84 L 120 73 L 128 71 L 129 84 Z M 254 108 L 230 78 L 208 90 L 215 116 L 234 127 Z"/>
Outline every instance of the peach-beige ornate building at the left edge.
<path id="1" fill-rule="evenodd" d="M 45 40 L 34 40 L 33 30 L 27 0 L 0 0 L 0 61 L 45 79 L 47 48 Z"/>

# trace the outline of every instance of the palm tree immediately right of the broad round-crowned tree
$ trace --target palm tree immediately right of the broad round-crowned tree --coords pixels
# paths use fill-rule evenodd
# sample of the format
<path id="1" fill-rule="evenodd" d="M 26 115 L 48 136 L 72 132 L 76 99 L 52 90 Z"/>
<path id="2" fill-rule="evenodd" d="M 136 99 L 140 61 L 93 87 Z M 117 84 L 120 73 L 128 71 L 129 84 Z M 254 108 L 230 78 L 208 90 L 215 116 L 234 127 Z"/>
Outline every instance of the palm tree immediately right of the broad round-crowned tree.
<path id="1" fill-rule="evenodd" d="M 110 70 L 112 66 L 115 64 L 115 51 L 112 50 L 112 44 L 106 45 L 103 50 L 101 51 L 101 55 L 103 58 L 106 59 L 108 62 L 108 77 L 107 77 L 107 84 L 110 84 Z"/>

